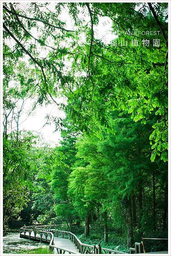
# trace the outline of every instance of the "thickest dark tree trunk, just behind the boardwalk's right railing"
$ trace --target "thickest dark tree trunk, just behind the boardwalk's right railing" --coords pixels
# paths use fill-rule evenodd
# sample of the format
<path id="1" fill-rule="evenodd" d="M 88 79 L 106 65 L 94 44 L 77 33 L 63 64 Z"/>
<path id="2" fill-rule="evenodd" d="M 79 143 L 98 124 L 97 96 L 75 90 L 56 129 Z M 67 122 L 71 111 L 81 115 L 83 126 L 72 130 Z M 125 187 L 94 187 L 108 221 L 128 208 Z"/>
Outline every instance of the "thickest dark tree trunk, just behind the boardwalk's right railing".
<path id="1" fill-rule="evenodd" d="M 133 225 L 132 225 L 132 207 L 130 198 L 125 198 L 126 206 L 126 227 L 127 227 L 127 247 L 132 247 L 134 243 Z"/>

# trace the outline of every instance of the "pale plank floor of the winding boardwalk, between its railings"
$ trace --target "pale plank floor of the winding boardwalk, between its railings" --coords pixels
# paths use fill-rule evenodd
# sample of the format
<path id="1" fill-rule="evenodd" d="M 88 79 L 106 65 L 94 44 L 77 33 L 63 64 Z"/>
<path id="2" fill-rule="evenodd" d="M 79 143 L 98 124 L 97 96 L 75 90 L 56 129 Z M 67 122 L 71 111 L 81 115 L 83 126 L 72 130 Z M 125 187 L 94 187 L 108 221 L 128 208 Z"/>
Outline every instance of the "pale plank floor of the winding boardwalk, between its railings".
<path id="1" fill-rule="evenodd" d="M 29 239 L 28 235 L 25 235 L 25 237 L 24 237 L 21 234 L 20 237 L 21 238 L 28 238 Z M 30 238 L 35 240 L 35 236 L 34 236 L 34 232 L 33 231 L 31 232 Z M 50 242 L 50 236 L 47 236 L 47 238 L 45 238 L 45 235 L 43 235 L 42 238 L 40 238 L 40 235 L 36 234 L 36 240 L 38 240 L 38 241 L 40 241 L 40 240 L 47 241 L 49 243 Z M 53 245 L 55 245 L 58 248 L 62 248 L 62 250 L 71 251 L 71 252 L 73 252 L 73 254 L 74 253 L 81 254 L 81 253 L 79 253 L 76 245 L 72 241 L 70 241 L 69 239 L 65 239 L 65 238 L 55 237 L 54 236 L 54 238 L 53 238 Z M 68 254 L 67 251 L 65 252 L 65 254 Z"/>

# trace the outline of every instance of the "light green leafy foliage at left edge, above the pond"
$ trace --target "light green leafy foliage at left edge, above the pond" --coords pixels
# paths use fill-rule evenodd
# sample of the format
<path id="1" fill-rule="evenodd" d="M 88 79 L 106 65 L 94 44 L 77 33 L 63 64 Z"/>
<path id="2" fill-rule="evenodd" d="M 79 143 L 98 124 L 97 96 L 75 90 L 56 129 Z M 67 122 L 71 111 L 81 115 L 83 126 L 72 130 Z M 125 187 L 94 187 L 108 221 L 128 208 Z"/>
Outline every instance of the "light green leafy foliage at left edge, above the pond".
<path id="1" fill-rule="evenodd" d="M 3 141 L 3 218 L 4 225 L 11 218 L 17 218 L 29 201 L 29 188 L 32 187 L 36 166 L 30 156 L 34 137 L 28 133 L 16 141 L 4 138 Z"/>

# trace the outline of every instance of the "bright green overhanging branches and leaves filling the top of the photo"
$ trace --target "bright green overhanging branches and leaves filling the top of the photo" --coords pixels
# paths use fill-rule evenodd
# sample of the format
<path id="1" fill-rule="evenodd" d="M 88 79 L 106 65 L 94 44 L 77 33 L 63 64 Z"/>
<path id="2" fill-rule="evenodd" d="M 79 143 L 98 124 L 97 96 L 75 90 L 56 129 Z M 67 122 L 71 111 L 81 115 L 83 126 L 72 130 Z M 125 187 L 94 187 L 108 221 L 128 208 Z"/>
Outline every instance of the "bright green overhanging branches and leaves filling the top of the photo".
<path id="1" fill-rule="evenodd" d="M 5 75 L 10 74 L 6 84 L 14 76 L 9 63 L 16 64 L 21 56 L 25 57 L 29 52 L 31 68 L 26 67 L 29 79 L 22 75 L 25 61 L 17 64 L 20 83 L 24 86 L 30 84 L 32 89 L 36 87 L 34 94 L 39 96 L 40 104 L 48 102 L 48 96 L 54 101 L 56 91 L 62 91 L 68 103 L 62 108 L 67 111 L 70 122 L 78 130 L 93 132 L 98 137 L 101 137 L 101 129 L 112 130 L 111 111 L 126 111 L 135 122 L 141 120 L 142 123 L 149 119 L 151 111 L 156 111 L 157 121 L 150 137 L 153 149 L 151 160 L 160 155 L 166 161 L 168 6 L 161 3 L 152 6 L 163 27 L 163 34 L 160 32 L 157 35 L 160 47 L 151 45 L 154 35 L 135 35 L 136 31 L 144 31 L 144 27 L 148 31 L 160 31 L 148 7 L 147 3 L 90 4 L 88 15 L 92 17 L 93 29 L 99 17 L 109 16 L 112 19 L 113 32 L 118 35 L 118 47 L 113 47 L 95 36 L 90 37 L 89 22 L 85 23 L 84 17 L 80 17 L 81 13 L 88 11 L 85 3 L 58 3 L 54 11 L 48 10 L 48 4 L 45 4 L 46 12 L 44 4 L 37 6 L 31 3 L 21 12 L 19 4 L 4 3 L 4 24 L 11 31 L 10 34 L 8 28 L 5 29 L 4 38 L 13 36 L 19 41 L 24 38 L 29 45 L 29 48 L 25 44 L 21 48 L 14 39 L 14 54 L 11 54 L 13 51 L 8 44 L 4 45 Z M 65 23 L 59 20 L 63 9 L 73 19 L 74 31 L 64 29 Z M 33 18 L 30 19 L 28 13 L 34 14 Z M 48 29 L 41 26 L 39 36 L 35 38 L 31 35 L 32 29 L 39 29 L 39 23 L 48 26 Z M 134 35 L 128 35 L 132 31 Z M 80 41 L 81 36 L 85 36 L 85 42 Z M 48 38 L 54 46 L 49 45 Z M 136 39 L 139 47 L 121 47 L 123 39 L 129 44 Z M 150 40 L 149 47 L 140 46 L 143 39 Z M 47 56 L 40 58 L 39 53 L 45 49 Z M 66 61 L 72 62 L 67 71 Z M 33 64 L 36 65 L 34 70 Z"/>

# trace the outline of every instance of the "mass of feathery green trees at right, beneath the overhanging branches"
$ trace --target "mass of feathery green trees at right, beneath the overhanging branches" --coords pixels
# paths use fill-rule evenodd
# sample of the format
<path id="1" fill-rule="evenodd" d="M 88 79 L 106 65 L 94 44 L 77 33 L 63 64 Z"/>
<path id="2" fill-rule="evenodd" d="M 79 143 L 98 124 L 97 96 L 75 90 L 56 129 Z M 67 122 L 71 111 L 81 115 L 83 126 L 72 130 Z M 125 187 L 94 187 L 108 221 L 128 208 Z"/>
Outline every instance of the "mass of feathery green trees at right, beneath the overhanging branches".
<path id="1" fill-rule="evenodd" d="M 161 160 L 155 163 L 150 160 L 149 132 L 155 121 L 156 117 L 152 114 L 151 120 L 142 124 L 140 121 L 133 122 L 128 115 L 118 117 L 118 113 L 113 113 L 115 135 L 104 134 L 103 140 L 93 136 L 80 137 L 76 143 L 78 160 L 70 174 L 68 195 L 81 218 L 89 211 L 97 214 L 100 207 L 101 215 L 107 210 L 113 225 L 119 229 L 123 227 L 125 233 L 128 211 L 126 198 L 135 196 L 138 211 L 142 186 L 144 199 L 142 209 L 139 210 L 141 217 L 137 219 L 134 230 L 135 237 L 139 240 L 140 234 L 152 230 L 154 225 L 151 214 L 153 189 L 149 184 L 155 173 L 156 224 L 161 223 L 161 212 L 164 214 L 165 206 L 162 207 L 163 210 L 158 207 L 161 207 L 160 198 L 163 198 L 166 184 L 163 175 L 165 173 L 165 177 L 167 176 L 167 165 L 162 165 Z"/>

